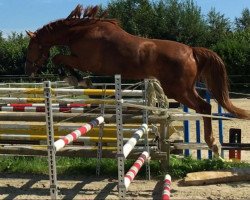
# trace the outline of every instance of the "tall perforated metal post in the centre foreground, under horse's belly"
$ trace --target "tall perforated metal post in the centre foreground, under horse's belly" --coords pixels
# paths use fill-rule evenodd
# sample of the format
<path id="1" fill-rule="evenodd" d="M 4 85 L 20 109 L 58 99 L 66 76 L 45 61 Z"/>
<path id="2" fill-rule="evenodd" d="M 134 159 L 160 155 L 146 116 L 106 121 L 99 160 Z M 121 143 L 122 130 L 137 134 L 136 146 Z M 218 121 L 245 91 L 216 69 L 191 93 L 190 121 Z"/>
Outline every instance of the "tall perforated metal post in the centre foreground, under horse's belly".
<path id="1" fill-rule="evenodd" d="M 120 199 L 125 199 L 126 188 L 124 184 L 124 154 L 123 154 L 123 126 L 122 126 L 122 91 L 121 76 L 115 75 L 116 99 L 116 128 L 117 128 L 117 159 L 118 159 L 118 193 Z"/>

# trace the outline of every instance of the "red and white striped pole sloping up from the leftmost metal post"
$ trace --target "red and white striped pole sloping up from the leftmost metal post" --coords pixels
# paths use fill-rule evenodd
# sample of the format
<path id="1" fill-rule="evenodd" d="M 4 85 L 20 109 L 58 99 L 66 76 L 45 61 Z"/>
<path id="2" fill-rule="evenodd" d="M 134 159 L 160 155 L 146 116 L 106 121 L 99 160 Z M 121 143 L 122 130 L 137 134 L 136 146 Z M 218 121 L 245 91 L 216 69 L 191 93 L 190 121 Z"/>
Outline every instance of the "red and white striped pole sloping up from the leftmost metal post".
<path id="1" fill-rule="evenodd" d="M 102 116 L 97 117 L 96 119 L 92 120 L 91 122 L 84 124 L 82 127 L 78 128 L 77 130 L 71 132 L 70 134 L 64 136 L 62 139 L 57 140 L 54 143 L 56 151 L 59 151 L 67 144 L 75 141 L 82 135 L 85 135 L 88 131 L 90 131 L 93 127 L 98 126 L 99 124 L 104 122 L 104 118 Z"/>

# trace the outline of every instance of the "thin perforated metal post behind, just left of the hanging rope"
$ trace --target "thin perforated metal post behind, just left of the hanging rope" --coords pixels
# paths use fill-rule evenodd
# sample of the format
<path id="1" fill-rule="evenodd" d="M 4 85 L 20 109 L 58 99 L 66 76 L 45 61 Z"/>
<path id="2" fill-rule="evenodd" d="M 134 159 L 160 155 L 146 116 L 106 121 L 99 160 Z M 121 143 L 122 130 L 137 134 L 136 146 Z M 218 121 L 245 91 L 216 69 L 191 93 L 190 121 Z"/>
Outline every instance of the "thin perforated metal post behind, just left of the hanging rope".
<path id="1" fill-rule="evenodd" d="M 147 106 L 148 101 L 147 101 L 147 88 L 148 88 L 148 80 L 144 80 L 144 93 L 143 93 L 143 99 L 144 99 L 144 105 Z M 144 109 L 143 110 L 143 123 L 148 125 L 148 110 Z M 149 158 L 150 158 L 150 148 L 148 144 L 148 131 L 145 132 L 144 134 L 144 146 L 145 146 L 145 151 L 148 152 Z M 146 176 L 147 179 L 151 179 L 150 175 L 150 159 L 147 159 L 146 161 Z"/>

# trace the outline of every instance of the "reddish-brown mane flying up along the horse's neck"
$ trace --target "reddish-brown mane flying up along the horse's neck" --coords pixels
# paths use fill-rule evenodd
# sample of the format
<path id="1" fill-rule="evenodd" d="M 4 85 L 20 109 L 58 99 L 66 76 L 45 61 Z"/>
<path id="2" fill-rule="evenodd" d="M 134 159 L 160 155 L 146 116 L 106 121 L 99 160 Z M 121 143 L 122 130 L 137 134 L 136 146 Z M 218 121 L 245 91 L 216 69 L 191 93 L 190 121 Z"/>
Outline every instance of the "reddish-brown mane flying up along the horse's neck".
<path id="1" fill-rule="evenodd" d="M 114 25 L 119 26 L 119 22 L 116 19 L 106 19 L 108 12 L 104 10 L 103 12 L 99 12 L 98 6 L 89 6 L 83 9 L 82 5 L 77 5 L 76 8 L 71 11 L 68 17 L 65 19 L 58 19 L 56 21 L 52 21 L 42 28 L 38 29 L 36 32 L 44 32 L 50 31 L 56 28 L 62 27 L 72 27 L 72 26 L 84 26 L 91 22 L 97 21 L 106 21 L 110 22 Z"/>

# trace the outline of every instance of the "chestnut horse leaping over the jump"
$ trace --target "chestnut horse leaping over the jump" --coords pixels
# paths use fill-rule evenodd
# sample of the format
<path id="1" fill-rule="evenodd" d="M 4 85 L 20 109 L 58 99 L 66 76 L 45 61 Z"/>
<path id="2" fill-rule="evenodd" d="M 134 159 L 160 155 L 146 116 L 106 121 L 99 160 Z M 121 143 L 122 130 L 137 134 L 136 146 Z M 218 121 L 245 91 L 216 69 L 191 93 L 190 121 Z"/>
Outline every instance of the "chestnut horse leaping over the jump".
<path id="1" fill-rule="evenodd" d="M 250 119 L 248 111 L 235 107 L 230 101 L 225 65 L 213 51 L 131 35 L 116 20 L 90 14 L 96 14 L 96 7 L 85 10 L 85 13 L 88 14 L 81 18 L 67 17 L 34 33 L 27 32 L 30 36 L 26 61 L 28 75 L 34 75 L 48 59 L 52 46 L 66 45 L 71 55 L 56 55 L 53 58 L 55 65 L 64 64 L 103 75 L 121 74 L 125 79 L 155 77 L 168 98 L 174 98 L 198 113 L 210 115 L 211 105 L 195 89 L 196 81 L 203 79 L 221 106 L 238 118 Z M 81 15 L 74 13 L 73 16 Z M 219 155 L 211 118 L 204 117 L 203 120 L 205 141 L 215 155 Z"/>

